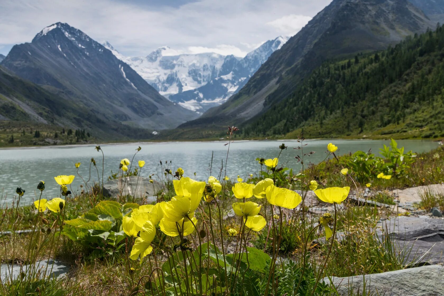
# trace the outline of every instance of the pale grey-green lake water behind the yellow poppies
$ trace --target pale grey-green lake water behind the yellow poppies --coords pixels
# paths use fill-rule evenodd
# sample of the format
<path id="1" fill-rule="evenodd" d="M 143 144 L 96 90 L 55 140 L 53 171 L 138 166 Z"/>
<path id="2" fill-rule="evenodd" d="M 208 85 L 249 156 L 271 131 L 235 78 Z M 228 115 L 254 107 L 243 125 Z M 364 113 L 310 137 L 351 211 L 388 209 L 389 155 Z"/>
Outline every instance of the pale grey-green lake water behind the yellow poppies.
<path id="1" fill-rule="evenodd" d="M 378 148 L 383 144 L 389 145 L 389 140 L 305 140 L 304 152 L 315 151 L 309 158 L 305 158 L 305 163 L 321 162 L 327 155 L 327 144 L 333 142 L 339 147 L 337 155 L 355 152 L 357 150 L 368 151 L 379 154 Z M 164 164 L 171 161 L 173 174 L 178 167 L 185 170 L 185 176 L 205 180 L 210 175 L 211 154 L 213 153 L 212 172 L 217 176 L 223 161 L 225 169 L 225 159 L 227 147 L 226 142 L 143 142 L 125 144 L 101 145 L 105 154 L 105 174 L 104 178 L 113 172 L 119 171 L 119 163 L 122 158 L 131 158 L 138 146 L 142 150 L 134 158 L 133 168 L 137 166 L 139 160 L 146 162 L 142 169 L 141 176 L 155 174 L 153 178 L 163 175 L 159 161 Z M 240 175 L 246 178 L 249 174 L 256 174 L 260 171 L 260 165 L 256 158 L 275 158 L 279 154 L 279 145 L 285 143 L 288 148 L 282 151 L 279 164 L 289 168 L 300 169 L 300 164 L 294 158 L 299 150 L 294 147 L 300 146 L 296 140 L 279 141 L 234 141 L 230 145 L 230 154 L 227 165 L 227 175 L 236 178 Z M 432 150 L 438 146 L 437 142 L 420 140 L 400 140 L 398 146 L 404 146 L 406 150 L 413 150 L 420 153 Z M 31 148 L 0 149 L 0 188 L 2 201 L 11 201 L 16 198 L 15 189 L 22 186 L 26 193 L 22 199 L 24 203 L 29 203 L 38 198 L 40 191 L 36 189 L 40 180 L 46 183 L 46 189 L 42 197 L 52 198 L 59 195 L 59 185 L 54 180 L 57 175 L 75 175 L 75 180 L 71 184 L 73 191 L 79 190 L 79 185 L 83 184 L 77 176 L 75 162 L 81 162 L 79 174 L 85 178 L 89 177 L 89 164 L 91 158 L 95 158 L 99 169 L 100 178 L 102 176 L 102 153 L 95 150 L 95 145 L 82 146 L 45 146 Z M 223 174 L 222 174 L 223 175 Z M 156 177 L 157 176 L 157 177 Z M 91 180 L 97 181 L 97 171 L 91 166 Z M 91 182 L 89 183 L 91 184 Z M 1 192 L 1 189 L 0 189 Z"/>

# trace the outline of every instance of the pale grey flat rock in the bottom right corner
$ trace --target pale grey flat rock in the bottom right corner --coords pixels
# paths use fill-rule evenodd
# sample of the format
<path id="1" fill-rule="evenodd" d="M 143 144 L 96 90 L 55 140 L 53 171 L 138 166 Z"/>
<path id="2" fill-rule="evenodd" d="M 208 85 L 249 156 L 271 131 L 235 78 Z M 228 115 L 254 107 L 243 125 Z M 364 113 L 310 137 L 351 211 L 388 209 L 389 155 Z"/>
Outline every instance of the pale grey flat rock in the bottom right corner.
<path id="1" fill-rule="evenodd" d="M 365 276 L 332 277 L 332 283 L 340 295 L 349 295 L 353 289 L 357 295 L 385 296 L 438 296 L 444 295 L 444 268 L 428 265 Z M 323 281 L 330 283 L 328 277 Z"/>

